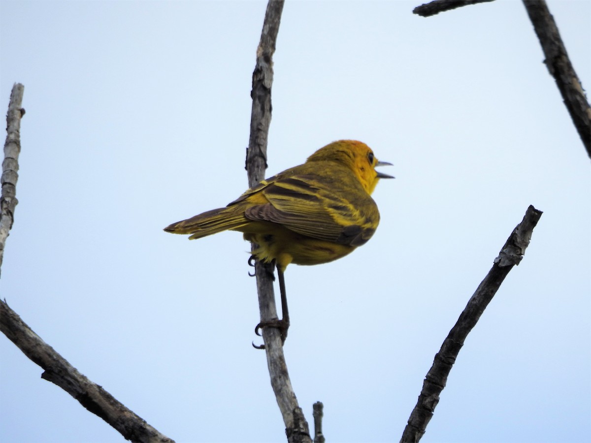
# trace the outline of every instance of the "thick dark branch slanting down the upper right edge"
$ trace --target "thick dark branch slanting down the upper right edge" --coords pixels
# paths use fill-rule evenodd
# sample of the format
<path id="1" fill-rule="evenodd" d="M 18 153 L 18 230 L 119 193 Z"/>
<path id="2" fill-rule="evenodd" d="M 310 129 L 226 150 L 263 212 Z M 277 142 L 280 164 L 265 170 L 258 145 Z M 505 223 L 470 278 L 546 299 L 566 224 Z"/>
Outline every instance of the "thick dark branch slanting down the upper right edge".
<path id="1" fill-rule="evenodd" d="M 523 4 L 544 51 L 544 63 L 556 80 L 564 105 L 569 110 L 587 155 L 591 157 L 591 107 L 573 64 L 570 63 L 554 17 L 545 0 L 523 0 Z"/>

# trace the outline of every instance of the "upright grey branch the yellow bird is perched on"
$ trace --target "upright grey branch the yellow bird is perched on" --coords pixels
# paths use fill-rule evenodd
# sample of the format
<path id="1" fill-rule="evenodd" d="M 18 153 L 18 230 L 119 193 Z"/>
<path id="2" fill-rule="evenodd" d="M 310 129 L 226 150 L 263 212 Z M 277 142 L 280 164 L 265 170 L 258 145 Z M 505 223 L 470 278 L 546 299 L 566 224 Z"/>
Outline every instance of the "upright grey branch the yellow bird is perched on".
<path id="1" fill-rule="evenodd" d="M 269 0 L 261 41 L 256 49 L 256 66 L 252 73 L 251 135 L 246 151 L 248 184 L 254 187 L 264 178 L 267 168 L 267 139 L 271 124 L 271 86 L 273 83 L 273 54 L 281 21 L 284 0 Z M 258 291 L 261 321 L 277 319 L 277 307 L 270 265 L 256 265 L 256 289 Z M 271 386 L 285 423 L 285 434 L 290 443 L 311 443 L 309 426 L 297 403 L 291 387 L 287 364 L 283 354 L 281 335 L 277 328 L 262 328 L 267 353 L 267 366 Z"/>

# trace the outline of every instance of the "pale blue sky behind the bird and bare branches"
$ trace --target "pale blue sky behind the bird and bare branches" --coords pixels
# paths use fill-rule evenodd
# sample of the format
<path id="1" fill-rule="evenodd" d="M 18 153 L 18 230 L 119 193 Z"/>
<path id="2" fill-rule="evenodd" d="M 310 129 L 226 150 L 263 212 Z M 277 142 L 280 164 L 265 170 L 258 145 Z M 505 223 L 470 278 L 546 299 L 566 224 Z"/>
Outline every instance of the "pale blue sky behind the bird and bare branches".
<path id="1" fill-rule="evenodd" d="M 434 354 L 528 205 L 543 210 L 423 442 L 591 440 L 589 157 L 518 1 L 287 1 L 268 176 L 342 138 L 394 167 L 365 246 L 286 273 L 291 380 L 331 442 L 398 441 Z M 548 1 L 583 87 L 591 2 Z M 266 2 L 0 2 L 0 106 L 25 85 L 0 297 L 178 442 L 284 425 L 239 233 L 162 231 L 246 188 Z M 5 112 L 5 111 L 2 111 Z M 256 340 L 255 340 L 256 341 Z M 0 441 L 122 437 L 0 337 Z"/>

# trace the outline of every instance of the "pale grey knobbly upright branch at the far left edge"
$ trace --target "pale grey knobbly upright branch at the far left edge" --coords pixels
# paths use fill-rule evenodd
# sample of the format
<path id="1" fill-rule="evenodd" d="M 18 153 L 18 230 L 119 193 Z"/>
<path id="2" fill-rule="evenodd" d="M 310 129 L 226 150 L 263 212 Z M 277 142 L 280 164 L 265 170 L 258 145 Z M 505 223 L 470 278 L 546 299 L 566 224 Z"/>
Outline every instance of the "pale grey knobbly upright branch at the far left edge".
<path id="1" fill-rule="evenodd" d="M 14 209 L 18 204 L 18 154 L 21 152 L 21 118 L 25 110 L 21 108 L 25 87 L 20 83 L 12 86 L 8 113 L 6 115 L 6 141 L 4 142 L 4 161 L 2 162 L 2 196 L 0 197 L 0 268 L 4 259 L 4 246 L 8 232 L 14 223 Z"/>

